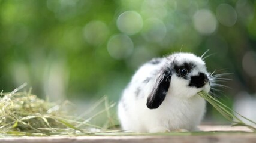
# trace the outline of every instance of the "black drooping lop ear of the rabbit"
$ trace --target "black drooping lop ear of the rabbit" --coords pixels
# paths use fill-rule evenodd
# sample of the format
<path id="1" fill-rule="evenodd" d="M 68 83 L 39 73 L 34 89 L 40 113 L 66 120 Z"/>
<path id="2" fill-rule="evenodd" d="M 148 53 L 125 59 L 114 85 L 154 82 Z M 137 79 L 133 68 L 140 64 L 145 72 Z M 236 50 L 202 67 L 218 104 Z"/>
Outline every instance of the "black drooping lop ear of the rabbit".
<path id="1" fill-rule="evenodd" d="M 168 92 L 171 82 L 171 72 L 162 71 L 156 77 L 153 89 L 147 97 L 147 108 L 155 109 L 158 108 Z"/>

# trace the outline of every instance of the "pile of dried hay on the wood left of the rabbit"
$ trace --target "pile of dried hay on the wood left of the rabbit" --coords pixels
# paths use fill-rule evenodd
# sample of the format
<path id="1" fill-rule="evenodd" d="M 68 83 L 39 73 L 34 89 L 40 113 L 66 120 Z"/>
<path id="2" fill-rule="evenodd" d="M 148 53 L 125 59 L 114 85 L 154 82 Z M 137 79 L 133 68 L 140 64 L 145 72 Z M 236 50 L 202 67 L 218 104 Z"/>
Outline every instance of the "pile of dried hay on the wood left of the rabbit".
<path id="1" fill-rule="evenodd" d="M 53 135 L 90 135 L 106 131 L 114 126 L 109 109 L 115 104 L 109 104 L 106 97 L 101 98 L 93 108 L 104 104 L 104 108 L 94 116 L 71 116 L 67 110 L 69 102 L 56 104 L 38 98 L 29 92 L 17 92 L 20 86 L 10 93 L 1 93 L 0 98 L 0 133 L 1 136 L 53 136 Z M 94 109 L 90 109 L 94 112 Z M 106 114 L 105 126 L 91 125 L 90 121 L 100 114 Z"/>

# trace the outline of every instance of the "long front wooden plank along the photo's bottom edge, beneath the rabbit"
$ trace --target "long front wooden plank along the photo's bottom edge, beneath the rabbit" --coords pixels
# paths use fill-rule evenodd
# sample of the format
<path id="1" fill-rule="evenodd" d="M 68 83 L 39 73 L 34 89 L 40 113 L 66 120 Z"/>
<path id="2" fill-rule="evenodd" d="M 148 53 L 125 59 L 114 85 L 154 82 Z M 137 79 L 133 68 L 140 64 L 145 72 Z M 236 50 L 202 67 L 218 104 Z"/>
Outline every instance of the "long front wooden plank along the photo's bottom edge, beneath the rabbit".
<path id="1" fill-rule="evenodd" d="M 82 142 L 99 142 L 99 143 L 186 143 L 186 142 L 219 142 L 219 143 L 251 143 L 256 142 L 255 134 L 247 135 L 207 135 L 207 136 L 79 136 L 79 137 L 21 137 L 21 138 L 1 138 L 1 143 L 19 142 L 19 143 L 82 143 Z"/>

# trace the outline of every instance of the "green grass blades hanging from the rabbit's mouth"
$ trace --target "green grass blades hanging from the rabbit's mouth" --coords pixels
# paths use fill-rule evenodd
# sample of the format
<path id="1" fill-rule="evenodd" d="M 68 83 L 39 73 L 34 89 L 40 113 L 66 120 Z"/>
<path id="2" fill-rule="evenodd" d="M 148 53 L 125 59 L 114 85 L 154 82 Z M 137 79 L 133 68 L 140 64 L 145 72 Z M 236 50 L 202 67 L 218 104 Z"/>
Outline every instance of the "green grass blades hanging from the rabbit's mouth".
<path id="1" fill-rule="evenodd" d="M 216 100 L 215 98 L 213 98 L 210 94 L 208 94 L 205 91 L 198 92 L 198 95 L 200 95 L 202 98 L 204 98 L 204 100 L 209 102 L 219 113 L 222 114 L 223 117 L 225 117 L 225 119 L 227 119 L 229 122 L 233 123 L 233 126 L 246 126 L 249 129 L 251 129 L 253 132 L 256 132 L 256 128 L 254 126 L 244 123 L 241 119 L 248 120 L 255 126 L 256 126 L 256 122 L 240 115 L 236 111 L 233 111 L 231 108 L 222 104 L 222 102 Z"/>

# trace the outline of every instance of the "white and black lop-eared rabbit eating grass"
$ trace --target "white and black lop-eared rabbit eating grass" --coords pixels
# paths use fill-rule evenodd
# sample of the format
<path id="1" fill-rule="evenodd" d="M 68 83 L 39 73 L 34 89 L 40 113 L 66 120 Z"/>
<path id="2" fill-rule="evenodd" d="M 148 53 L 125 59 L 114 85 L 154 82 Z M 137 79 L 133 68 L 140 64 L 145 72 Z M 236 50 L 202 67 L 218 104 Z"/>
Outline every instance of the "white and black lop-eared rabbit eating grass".
<path id="1" fill-rule="evenodd" d="M 203 56 L 203 55 L 202 55 Z M 210 91 L 210 73 L 202 57 L 178 52 L 143 64 L 118 102 L 123 130 L 132 132 L 195 131 Z"/>

